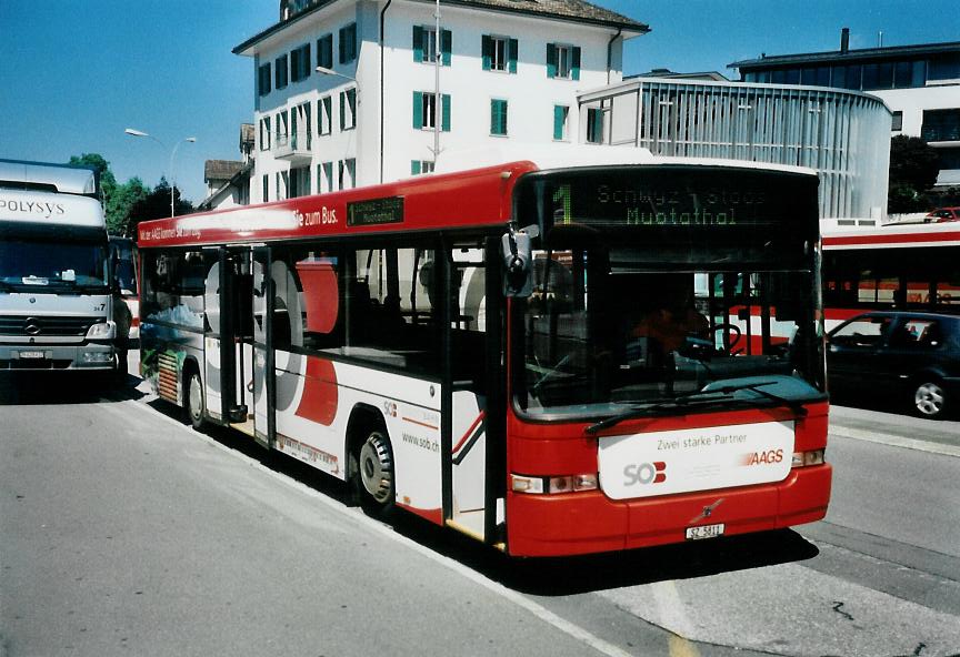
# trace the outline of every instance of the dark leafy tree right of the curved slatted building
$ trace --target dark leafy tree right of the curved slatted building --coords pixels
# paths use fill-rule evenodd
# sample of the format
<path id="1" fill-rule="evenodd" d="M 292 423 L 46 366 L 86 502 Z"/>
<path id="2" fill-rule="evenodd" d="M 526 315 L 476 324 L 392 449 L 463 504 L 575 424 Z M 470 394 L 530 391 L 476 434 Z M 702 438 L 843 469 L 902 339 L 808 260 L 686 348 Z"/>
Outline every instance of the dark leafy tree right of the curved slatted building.
<path id="1" fill-rule="evenodd" d="M 924 193 L 937 182 L 940 155 L 918 137 L 900 134 L 890 140 L 890 188 L 888 212 L 928 210 Z"/>

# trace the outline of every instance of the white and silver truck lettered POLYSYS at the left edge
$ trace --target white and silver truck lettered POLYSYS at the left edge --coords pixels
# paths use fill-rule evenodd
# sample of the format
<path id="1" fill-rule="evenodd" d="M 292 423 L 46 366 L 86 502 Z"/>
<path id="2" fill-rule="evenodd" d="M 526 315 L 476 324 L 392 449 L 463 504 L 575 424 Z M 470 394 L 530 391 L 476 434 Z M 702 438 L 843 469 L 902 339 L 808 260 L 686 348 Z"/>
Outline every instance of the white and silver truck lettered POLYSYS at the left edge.
<path id="1" fill-rule="evenodd" d="M 0 374 L 126 374 L 118 296 L 91 169 L 0 160 Z"/>

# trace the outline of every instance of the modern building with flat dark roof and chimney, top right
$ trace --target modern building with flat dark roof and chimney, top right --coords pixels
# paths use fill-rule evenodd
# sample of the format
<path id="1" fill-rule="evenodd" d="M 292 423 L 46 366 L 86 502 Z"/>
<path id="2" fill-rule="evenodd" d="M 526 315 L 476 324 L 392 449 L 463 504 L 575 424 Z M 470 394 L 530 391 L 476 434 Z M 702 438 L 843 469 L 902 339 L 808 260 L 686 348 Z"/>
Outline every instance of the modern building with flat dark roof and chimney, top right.
<path id="1" fill-rule="evenodd" d="M 960 185 L 960 42 L 762 55 L 733 62 L 747 82 L 866 91 L 893 113 L 891 135 L 920 137 L 940 153 L 937 186 Z"/>

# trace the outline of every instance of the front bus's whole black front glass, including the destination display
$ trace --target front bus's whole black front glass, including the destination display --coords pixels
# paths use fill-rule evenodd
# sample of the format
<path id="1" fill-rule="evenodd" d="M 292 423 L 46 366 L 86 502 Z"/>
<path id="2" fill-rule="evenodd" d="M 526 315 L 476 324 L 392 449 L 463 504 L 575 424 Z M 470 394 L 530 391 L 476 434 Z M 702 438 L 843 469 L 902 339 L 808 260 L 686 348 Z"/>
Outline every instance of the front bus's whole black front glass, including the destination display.
<path id="1" fill-rule="evenodd" d="M 783 181 L 787 204 L 774 209 L 759 172 L 709 173 L 543 176 L 520 192 L 520 211 L 536 208 L 541 230 L 533 292 L 513 324 L 521 412 L 824 398 L 816 180 L 806 190 L 810 181 Z"/>

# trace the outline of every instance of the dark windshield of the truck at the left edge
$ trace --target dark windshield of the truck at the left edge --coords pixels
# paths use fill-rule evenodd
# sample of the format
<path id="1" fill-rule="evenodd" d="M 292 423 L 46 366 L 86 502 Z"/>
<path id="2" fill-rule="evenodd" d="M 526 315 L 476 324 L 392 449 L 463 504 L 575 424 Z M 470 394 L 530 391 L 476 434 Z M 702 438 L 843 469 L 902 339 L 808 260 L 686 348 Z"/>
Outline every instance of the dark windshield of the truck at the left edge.
<path id="1" fill-rule="evenodd" d="M 0 285 L 8 291 L 103 292 L 107 264 L 104 241 L 8 236 L 0 242 Z"/>

